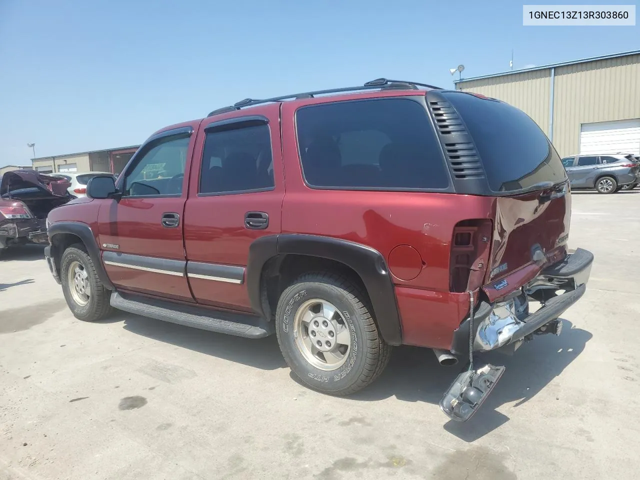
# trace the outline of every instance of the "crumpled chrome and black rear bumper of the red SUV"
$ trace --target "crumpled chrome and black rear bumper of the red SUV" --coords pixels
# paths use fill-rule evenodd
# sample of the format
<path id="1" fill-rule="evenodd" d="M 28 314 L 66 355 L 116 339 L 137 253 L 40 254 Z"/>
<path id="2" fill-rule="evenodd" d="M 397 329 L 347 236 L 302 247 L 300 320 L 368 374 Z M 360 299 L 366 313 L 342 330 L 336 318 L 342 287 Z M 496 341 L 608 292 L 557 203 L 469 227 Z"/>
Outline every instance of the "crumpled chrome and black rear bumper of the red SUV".
<path id="1" fill-rule="evenodd" d="M 473 321 L 474 351 L 517 348 L 533 333 L 559 333 L 561 322 L 557 319 L 586 291 L 592 264 L 593 253 L 579 248 L 506 298 L 481 302 Z M 542 306 L 530 313 L 529 300 L 540 301 Z M 469 333 L 465 319 L 454 332 L 451 353 L 468 354 Z"/>

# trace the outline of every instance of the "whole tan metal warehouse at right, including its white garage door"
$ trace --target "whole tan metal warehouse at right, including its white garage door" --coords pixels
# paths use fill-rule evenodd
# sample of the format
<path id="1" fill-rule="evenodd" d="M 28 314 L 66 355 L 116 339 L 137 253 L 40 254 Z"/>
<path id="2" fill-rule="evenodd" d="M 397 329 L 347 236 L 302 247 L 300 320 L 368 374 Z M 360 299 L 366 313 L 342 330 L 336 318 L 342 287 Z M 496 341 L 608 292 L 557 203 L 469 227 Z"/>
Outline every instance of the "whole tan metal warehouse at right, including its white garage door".
<path id="1" fill-rule="evenodd" d="M 454 83 L 527 113 L 560 156 L 640 154 L 640 50 Z"/>

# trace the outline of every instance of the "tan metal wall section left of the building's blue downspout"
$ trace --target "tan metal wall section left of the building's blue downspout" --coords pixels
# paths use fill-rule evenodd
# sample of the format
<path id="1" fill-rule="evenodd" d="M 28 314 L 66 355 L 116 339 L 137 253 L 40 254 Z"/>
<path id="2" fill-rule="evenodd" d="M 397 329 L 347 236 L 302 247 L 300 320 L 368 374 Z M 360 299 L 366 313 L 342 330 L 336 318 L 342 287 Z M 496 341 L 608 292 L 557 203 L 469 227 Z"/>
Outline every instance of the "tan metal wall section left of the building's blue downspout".
<path id="1" fill-rule="evenodd" d="M 456 83 L 457 90 L 481 93 L 502 100 L 527 113 L 548 134 L 550 73 L 533 70 L 522 74 L 482 78 Z"/>

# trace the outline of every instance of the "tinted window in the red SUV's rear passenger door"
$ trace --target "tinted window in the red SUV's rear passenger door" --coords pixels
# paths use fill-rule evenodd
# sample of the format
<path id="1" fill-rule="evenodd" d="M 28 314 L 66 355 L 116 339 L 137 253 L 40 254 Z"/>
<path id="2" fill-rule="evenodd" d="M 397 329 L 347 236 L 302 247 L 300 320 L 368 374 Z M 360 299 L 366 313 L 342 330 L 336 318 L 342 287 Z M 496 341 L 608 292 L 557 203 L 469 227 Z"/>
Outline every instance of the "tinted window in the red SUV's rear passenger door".
<path id="1" fill-rule="evenodd" d="M 247 193 L 275 188 L 269 125 L 262 122 L 239 125 L 235 129 L 207 132 L 199 194 Z"/>

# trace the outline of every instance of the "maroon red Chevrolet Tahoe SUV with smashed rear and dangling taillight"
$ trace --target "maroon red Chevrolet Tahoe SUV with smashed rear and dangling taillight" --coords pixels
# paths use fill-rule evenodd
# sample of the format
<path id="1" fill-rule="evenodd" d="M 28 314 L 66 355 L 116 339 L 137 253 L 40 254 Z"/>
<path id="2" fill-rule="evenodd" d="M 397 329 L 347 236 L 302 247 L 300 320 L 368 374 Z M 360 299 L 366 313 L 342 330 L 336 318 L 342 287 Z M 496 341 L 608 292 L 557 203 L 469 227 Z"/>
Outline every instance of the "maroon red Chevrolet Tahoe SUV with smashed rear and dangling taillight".
<path id="1" fill-rule="evenodd" d="M 335 395 L 371 383 L 392 346 L 431 348 L 469 367 L 441 403 L 456 420 L 504 369 L 475 371 L 473 353 L 559 333 L 593 261 L 567 251 L 568 180 L 529 116 L 387 79 L 166 127 L 87 196 L 47 221 L 77 318 L 276 333 L 292 371 Z"/>

